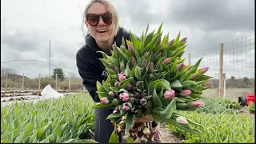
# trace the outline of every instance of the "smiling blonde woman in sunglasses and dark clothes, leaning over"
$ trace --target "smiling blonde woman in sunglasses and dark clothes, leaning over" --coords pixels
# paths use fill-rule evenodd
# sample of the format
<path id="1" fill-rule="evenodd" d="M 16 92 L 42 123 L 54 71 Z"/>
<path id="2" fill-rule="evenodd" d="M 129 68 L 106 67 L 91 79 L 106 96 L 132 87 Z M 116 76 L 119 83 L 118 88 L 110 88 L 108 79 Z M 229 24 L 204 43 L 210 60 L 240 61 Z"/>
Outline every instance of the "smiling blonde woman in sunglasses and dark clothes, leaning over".
<path id="1" fill-rule="evenodd" d="M 96 53 L 102 50 L 106 54 L 111 54 L 112 45 L 121 46 L 122 37 L 130 40 L 130 34 L 127 30 L 118 25 L 119 19 L 114 6 L 106 0 L 92 0 L 83 14 L 83 22 L 90 34 L 86 35 L 86 45 L 78 50 L 76 61 L 78 72 L 83 79 L 82 84 L 86 86 L 94 102 L 100 102 L 96 93 L 96 82 L 106 80 L 107 71 L 105 66 L 99 60 L 102 54 Z M 95 110 L 95 140 L 97 142 L 108 142 L 114 126 L 107 116 L 113 110 L 100 108 Z M 149 122 L 152 117 L 146 116 L 142 119 L 136 119 L 136 122 Z M 119 142 L 122 142 L 119 134 Z"/>

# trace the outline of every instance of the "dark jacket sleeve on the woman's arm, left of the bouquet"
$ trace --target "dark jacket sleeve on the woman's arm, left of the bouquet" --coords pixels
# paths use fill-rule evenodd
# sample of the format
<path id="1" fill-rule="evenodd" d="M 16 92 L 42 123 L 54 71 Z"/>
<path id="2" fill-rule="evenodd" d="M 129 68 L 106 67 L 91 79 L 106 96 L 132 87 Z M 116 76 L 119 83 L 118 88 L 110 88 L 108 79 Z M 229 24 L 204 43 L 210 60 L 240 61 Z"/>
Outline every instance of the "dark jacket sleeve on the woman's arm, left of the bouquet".
<path id="1" fill-rule="evenodd" d="M 96 82 L 101 80 L 101 75 L 98 74 L 95 66 L 92 66 L 90 62 L 84 62 L 79 55 L 76 56 L 78 73 L 82 78 L 82 84 L 86 86 L 90 96 L 94 99 L 94 102 L 100 102 L 98 94 L 96 93 Z"/>

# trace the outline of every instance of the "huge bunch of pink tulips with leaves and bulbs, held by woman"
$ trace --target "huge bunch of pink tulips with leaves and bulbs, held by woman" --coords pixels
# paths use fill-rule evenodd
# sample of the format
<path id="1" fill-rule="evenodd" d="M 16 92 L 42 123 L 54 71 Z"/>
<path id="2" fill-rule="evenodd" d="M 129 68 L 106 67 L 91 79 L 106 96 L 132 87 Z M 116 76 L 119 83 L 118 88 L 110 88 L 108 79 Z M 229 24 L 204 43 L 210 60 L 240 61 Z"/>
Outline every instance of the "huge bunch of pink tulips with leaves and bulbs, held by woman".
<path id="1" fill-rule="evenodd" d="M 199 99 L 202 90 L 212 86 L 207 82 L 211 77 L 205 75 L 208 67 L 199 68 L 202 58 L 194 66 L 184 64 L 186 38 L 180 39 L 180 33 L 169 41 L 169 34 L 162 38 L 162 25 L 150 34 L 148 28 L 140 40 L 130 32 L 131 41 L 123 38 L 122 46 L 114 44 L 111 56 L 98 51 L 109 75 L 106 81 L 97 82 L 101 102 L 94 108 L 114 110 L 108 116 L 114 122 L 110 142 L 118 142 L 118 131 L 127 142 L 160 142 L 159 122 L 201 134 L 190 124 L 201 125 L 176 110 L 196 110 L 205 105 Z M 138 121 L 147 116 L 152 118 L 150 122 Z"/>

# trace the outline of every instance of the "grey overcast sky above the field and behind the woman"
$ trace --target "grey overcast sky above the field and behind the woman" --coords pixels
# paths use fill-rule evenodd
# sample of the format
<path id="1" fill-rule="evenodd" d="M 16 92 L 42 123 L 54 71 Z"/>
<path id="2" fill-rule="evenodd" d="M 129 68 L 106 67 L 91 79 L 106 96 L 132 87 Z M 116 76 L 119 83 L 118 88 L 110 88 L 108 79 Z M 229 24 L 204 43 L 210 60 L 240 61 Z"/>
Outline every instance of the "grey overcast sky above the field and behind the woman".
<path id="1" fill-rule="evenodd" d="M 1 62 L 25 59 L 49 62 L 51 41 L 51 63 L 79 77 L 75 54 L 84 43 L 82 12 L 88 2 L 90 0 L 1 0 Z M 232 75 L 233 72 L 239 73 L 238 70 L 245 70 L 242 65 L 246 64 L 246 70 L 241 73 L 254 77 L 254 0 L 110 2 L 118 11 L 120 25 L 138 36 L 146 29 L 147 23 L 151 31 L 163 22 L 163 33 L 169 33 L 170 38 L 176 38 L 181 31 L 181 37 L 187 37 L 188 43 L 184 57 L 191 53 L 192 64 L 198 57 L 204 57 L 202 66 L 210 65 L 212 74 L 218 73 L 218 65 L 215 64 L 219 62 L 220 43 L 235 40 L 231 45 L 226 43 L 230 47 L 225 52 L 226 62 L 235 62 L 224 70 Z M 244 40 L 238 39 L 248 35 Z M 244 50 L 243 46 L 233 50 L 240 46 L 234 46 L 238 42 L 236 39 L 246 42 Z M 243 54 L 247 59 L 239 60 L 237 56 L 243 58 Z M 241 67 L 235 69 L 238 61 Z M 48 75 L 49 65 L 42 62 L 7 62 L 1 66 L 34 78 L 39 73 Z"/>

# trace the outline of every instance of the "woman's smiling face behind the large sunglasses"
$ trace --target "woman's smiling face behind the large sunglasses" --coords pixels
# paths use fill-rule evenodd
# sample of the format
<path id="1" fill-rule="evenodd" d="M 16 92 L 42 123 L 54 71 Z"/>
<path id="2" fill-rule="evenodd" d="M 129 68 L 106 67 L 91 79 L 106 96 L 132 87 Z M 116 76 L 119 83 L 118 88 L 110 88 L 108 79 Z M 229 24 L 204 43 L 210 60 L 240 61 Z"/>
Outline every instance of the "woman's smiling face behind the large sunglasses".
<path id="1" fill-rule="evenodd" d="M 97 15 L 100 15 L 98 19 Z M 113 31 L 112 19 L 111 22 L 106 21 L 110 20 L 108 19 L 109 17 L 111 18 L 111 14 L 108 13 L 106 6 L 100 2 L 95 2 L 87 10 L 85 23 L 90 31 L 90 35 L 96 40 L 96 42 L 107 42 L 111 37 L 113 37 L 111 36 Z M 91 26 L 92 22 L 94 22 L 93 26 Z M 97 23 L 98 25 L 94 26 Z"/>

